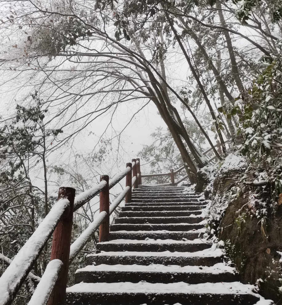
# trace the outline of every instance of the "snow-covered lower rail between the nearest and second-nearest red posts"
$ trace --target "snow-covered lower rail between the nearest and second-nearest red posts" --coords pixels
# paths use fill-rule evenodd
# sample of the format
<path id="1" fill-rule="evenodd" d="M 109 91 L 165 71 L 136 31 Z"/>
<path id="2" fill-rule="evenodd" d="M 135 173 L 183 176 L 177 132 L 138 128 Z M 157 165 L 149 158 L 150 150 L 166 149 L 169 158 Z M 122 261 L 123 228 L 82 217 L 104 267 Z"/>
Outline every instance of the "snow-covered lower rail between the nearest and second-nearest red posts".
<path id="1" fill-rule="evenodd" d="M 105 220 L 107 216 L 107 212 L 102 211 L 97 218 L 93 220 L 91 224 L 89 224 L 88 228 L 81 233 L 79 237 L 71 244 L 70 246 L 70 263 L 76 257 L 77 253 L 87 244 L 87 241 L 91 236 L 93 236 L 94 232 L 99 228 L 100 224 Z"/>

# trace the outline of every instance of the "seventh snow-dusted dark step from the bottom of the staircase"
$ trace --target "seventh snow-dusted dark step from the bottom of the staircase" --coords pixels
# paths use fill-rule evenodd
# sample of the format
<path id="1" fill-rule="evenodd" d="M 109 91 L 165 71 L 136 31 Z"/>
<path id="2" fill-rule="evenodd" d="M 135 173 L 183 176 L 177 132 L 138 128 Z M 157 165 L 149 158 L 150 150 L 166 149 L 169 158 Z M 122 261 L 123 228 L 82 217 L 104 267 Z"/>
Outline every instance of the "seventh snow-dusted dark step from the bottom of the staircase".
<path id="1" fill-rule="evenodd" d="M 115 224 L 197 224 L 204 220 L 197 216 L 178 217 L 118 217 Z"/>

